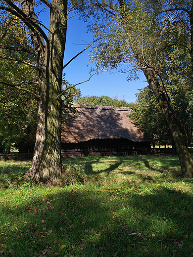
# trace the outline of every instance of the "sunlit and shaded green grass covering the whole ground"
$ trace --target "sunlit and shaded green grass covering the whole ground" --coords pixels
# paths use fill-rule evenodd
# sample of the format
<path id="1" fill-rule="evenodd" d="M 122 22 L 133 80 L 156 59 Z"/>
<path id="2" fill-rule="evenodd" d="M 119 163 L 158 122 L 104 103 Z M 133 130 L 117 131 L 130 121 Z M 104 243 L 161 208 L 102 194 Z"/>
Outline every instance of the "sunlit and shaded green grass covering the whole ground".
<path id="1" fill-rule="evenodd" d="M 177 157 L 63 164 L 45 187 L 21 179 L 30 162 L 0 162 L 0 256 L 193 256 L 193 180 Z"/>

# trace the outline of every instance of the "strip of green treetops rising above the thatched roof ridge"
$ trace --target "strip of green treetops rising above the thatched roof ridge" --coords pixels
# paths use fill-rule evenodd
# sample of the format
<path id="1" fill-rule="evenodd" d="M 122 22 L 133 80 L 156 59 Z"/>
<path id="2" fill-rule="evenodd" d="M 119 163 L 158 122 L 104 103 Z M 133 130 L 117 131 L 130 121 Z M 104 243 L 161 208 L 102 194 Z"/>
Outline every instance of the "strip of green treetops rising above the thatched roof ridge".
<path id="1" fill-rule="evenodd" d="M 76 103 L 79 104 L 94 104 L 94 105 L 103 105 L 103 106 L 117 106 L 117 107 L 129 107 L 131 108 L 132 104 L 127 103 L 124 99 L 118 100 L 117 96 L 111 98 L 109 96 L 82 96 L 76 100 Z"/>

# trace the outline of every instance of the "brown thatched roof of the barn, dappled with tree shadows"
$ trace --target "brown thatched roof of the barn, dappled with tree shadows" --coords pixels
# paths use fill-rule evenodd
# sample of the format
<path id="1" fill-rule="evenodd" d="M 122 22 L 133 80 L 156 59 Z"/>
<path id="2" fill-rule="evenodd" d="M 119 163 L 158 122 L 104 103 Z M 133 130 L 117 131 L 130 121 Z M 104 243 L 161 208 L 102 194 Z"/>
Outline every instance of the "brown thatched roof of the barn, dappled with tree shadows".
<path id="1" fill-rule="evenodd" d="M 127 138 L 134 142 L 150 141 L 127 116 L 127 107 L 109 107 L 88 104 L 74 104 L 81 115 L 68 119 L 62 128 L 62 143 L 78 143 L 91 139 Z"/>

